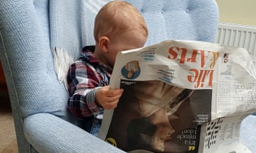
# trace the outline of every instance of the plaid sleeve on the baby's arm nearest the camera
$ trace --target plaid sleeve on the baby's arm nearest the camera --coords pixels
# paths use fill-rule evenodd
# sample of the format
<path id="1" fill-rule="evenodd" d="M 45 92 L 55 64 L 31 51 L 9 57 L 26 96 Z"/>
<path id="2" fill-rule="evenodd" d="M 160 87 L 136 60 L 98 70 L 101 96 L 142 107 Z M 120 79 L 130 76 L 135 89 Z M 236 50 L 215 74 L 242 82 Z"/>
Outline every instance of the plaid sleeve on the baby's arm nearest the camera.
<path id="1" fill-rule="evenodd" d="M 68 108 L 78 118 L 102 112 L 102 108 L 95 103 L 95 92 L 101 88 L 95 73 L 92 65 L 82 61 L 73 63 L 68 69 Z"/>

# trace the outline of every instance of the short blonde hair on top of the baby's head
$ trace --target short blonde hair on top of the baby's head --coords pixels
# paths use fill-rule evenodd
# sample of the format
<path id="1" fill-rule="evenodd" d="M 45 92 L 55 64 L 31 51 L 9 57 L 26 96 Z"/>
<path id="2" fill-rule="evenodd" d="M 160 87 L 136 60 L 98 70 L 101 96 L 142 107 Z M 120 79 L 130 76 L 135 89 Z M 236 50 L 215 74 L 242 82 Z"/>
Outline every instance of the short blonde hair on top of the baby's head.
<path id="1" fill-rule="evenodd" d="M 103 6 L 95 18 L 94 37 L 112 37 L 125 30 L 141 30 L 147 37 L 148 29 L 142 14 L 125 1 L 110 1 Z"/>

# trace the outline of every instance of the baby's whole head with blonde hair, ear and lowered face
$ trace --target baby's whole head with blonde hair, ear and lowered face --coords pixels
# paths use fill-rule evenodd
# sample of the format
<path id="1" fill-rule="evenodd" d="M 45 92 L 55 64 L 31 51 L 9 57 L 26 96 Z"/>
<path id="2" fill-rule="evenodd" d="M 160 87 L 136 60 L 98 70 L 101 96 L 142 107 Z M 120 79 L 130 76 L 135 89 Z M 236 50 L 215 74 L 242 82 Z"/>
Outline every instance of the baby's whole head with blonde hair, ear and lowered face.
<path id="1" fill-rule="evenodd" d="M 117 52 L 144 46 L 148 29 L 137 8 L 125 1 L 111 1 L 97 13 L 94 36 L 96 50 L 103 52 L 101 62 L 112 67 Z"/>

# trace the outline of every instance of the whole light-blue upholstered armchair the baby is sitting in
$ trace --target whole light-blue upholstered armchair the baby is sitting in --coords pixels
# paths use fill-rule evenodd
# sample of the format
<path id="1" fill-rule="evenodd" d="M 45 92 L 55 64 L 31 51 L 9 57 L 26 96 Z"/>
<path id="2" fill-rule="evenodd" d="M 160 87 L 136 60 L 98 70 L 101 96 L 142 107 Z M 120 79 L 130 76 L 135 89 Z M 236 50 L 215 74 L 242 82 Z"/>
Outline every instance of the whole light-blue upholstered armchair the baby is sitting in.
<path id="1" fill-rule="evenodd" d="M 214 0 L 128 1 L 149 26 L 146 45 L 166 39 L 215 40 Z M 78 57 L 82 46 L 94 44 L 94 18 L 106 2 L 1 1 L 0 57 L 19 152 L 122 152 L 79 128 L 80 121 L 67 111 L 68 91 L 54 67 L 55 48 Z"/>

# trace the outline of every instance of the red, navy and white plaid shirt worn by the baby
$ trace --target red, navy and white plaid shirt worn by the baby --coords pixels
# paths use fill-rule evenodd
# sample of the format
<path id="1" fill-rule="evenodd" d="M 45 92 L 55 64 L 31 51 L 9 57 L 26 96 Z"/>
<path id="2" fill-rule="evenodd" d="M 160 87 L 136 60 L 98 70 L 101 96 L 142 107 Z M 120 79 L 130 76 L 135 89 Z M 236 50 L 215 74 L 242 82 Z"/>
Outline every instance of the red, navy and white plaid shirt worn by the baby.
<path id="1" fill-rule="evenodd" d="M 112 69 L 100 63 L 93 55 L 95 46 L 82 49 L 82 56 L 68 69 L 68 108 L 78 118 L 102 113 L 103 108 L 95 103 L 95 91 L 107 86 Z"/>

